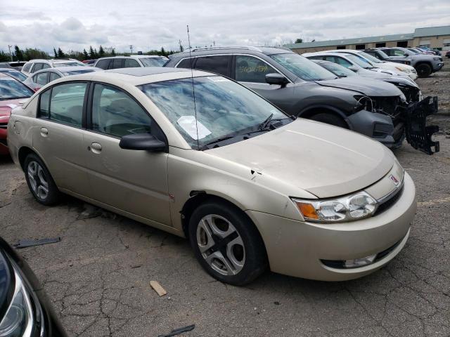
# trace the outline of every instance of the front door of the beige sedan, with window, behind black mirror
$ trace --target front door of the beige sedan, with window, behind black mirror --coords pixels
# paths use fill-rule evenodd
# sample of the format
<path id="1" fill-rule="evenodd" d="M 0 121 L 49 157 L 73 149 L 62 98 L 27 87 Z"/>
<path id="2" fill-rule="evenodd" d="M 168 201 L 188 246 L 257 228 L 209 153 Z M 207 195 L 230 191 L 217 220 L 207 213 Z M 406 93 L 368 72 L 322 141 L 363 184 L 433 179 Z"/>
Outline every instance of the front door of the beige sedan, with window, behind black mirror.
<path id="1" fill-rule="evenodd" d="M 94 199 L 122 211 L 170 225 L 166 152 L 123 150 L 120 138 L 133 133 L 165 136 L 128 93 L 106 84 L 91 89 L 89 132 L 84 137 Z"/>

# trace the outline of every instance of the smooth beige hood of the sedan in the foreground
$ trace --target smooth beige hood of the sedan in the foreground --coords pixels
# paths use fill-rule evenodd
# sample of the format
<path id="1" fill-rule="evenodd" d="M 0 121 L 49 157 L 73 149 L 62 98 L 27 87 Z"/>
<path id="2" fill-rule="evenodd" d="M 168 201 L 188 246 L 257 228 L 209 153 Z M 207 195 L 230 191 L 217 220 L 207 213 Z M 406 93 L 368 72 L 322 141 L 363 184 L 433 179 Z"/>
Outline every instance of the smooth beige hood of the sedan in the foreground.
<path id="1" fill-rule="evenodd" d="M 380 143 L 301 118 L 261 136 L 205 152 L 319 198 L 362 190 L 394 165 L 392 152 Z"/>

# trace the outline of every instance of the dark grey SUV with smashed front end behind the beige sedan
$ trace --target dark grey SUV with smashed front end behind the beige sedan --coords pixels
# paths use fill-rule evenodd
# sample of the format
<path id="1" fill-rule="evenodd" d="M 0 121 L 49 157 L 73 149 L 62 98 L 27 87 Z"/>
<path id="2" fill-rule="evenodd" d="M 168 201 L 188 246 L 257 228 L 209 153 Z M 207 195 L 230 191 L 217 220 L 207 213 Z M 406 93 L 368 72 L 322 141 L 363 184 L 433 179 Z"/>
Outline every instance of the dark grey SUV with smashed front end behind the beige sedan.
<path id="1" fill-rule="evenodd" d="M 287 48 L 230 46 L 194 48 L 169 56 L 165 67 L 221 74 L 252 89 L 287 114 L 362 133 L 388 147 L 404 138 L 428 154 L 439 151 L 426 126 L 437 98 L 409 102 L 399 88 L 379 81 L 338 79 L 335 74 Z M 432 150 L 435 147 L 435 150 Z"/>

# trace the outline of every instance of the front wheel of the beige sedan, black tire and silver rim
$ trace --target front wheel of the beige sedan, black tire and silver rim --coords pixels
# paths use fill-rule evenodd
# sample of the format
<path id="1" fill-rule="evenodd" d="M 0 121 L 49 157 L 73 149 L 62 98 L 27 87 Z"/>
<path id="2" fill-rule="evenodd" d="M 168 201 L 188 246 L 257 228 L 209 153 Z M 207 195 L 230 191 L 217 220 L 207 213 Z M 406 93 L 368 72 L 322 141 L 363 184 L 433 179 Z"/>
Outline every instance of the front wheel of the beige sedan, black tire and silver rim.
<path id="1" fill-rule="evenodd" d="M 189 239 L 200 265 L 221 282 L 243 286 L 266 269 L 266 250 L 255 225 L 225 202 L 207 201 L 193 211 Z"/>

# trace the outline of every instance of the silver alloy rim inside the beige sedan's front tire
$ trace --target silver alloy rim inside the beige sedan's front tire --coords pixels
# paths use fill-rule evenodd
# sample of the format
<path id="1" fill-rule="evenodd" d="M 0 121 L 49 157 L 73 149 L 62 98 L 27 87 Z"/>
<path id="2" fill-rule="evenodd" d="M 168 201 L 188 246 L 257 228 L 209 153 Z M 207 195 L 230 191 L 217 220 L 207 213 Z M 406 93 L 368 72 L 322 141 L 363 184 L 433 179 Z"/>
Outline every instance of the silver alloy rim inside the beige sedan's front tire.
<path id="1" fill-rule="evenodd" d="M 221 275 L 236 275 L 245 264 L 245 246 L 236 227 L 222 216 L 204 216 L 197 226 L 197 244 L 210 267 Z"/>

